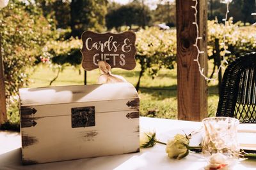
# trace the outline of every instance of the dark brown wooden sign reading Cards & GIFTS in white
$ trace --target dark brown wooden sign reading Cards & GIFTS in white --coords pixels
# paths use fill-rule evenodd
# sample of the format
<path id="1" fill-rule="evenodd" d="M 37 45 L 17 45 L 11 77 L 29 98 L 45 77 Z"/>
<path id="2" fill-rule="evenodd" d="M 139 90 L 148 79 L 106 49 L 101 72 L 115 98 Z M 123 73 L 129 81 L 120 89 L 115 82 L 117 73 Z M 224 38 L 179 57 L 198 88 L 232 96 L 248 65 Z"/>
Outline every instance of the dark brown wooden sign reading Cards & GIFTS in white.
<path id="1" fill-rule="evenodd" d="M 99 68 L 99 60 L 105 60 L 112 68 L 131 70 L 136 66 L 136 34 L 132 31 L 120 34 L 85 31 L 82 40 L 82 66 L 86 71 Z"/>

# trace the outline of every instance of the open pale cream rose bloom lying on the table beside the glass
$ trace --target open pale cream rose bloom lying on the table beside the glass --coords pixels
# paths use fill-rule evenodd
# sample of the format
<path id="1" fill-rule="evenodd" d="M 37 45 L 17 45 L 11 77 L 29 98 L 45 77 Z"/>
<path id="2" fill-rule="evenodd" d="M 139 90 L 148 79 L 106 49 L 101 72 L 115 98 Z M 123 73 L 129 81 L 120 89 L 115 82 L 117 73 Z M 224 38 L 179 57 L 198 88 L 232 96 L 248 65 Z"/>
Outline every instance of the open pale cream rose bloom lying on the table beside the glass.
<path id="1" fill-rule="evenodd" d="M 189 139 L 182 134 L 176 134 L 174 139 L 167 142 L 166 153 L 168 153 L 168 157 L 174 159 L 186 157 L 189 153 L 186 145 L 189 145 Z"/>

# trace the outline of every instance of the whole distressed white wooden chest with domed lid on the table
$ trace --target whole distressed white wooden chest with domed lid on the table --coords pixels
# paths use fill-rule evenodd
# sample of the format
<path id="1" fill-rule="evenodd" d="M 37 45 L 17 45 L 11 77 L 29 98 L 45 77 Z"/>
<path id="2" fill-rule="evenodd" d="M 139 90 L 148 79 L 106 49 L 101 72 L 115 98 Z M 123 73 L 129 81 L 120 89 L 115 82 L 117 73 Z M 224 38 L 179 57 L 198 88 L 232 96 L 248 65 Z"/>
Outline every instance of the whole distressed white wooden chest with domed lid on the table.
<path id="1" fill-rule="evenodd" d="M 130 83 L 19 89 L 23 164 L 140 152 Z"/>

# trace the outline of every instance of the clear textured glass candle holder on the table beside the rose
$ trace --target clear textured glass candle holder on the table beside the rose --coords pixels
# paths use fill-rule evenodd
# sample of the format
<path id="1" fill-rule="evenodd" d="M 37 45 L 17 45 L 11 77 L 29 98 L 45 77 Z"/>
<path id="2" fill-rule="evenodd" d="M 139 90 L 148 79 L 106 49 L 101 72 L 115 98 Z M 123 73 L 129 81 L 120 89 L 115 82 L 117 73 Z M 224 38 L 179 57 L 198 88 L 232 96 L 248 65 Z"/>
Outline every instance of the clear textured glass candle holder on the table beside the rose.
<path id="1" fill-rule="evenodd" d="M 205 136 L 202 153 L 209 164 L 233 164 L 239 157 L 237 125 L 239 120 L 229 117 L 211 117 L 202 120 Z"/>

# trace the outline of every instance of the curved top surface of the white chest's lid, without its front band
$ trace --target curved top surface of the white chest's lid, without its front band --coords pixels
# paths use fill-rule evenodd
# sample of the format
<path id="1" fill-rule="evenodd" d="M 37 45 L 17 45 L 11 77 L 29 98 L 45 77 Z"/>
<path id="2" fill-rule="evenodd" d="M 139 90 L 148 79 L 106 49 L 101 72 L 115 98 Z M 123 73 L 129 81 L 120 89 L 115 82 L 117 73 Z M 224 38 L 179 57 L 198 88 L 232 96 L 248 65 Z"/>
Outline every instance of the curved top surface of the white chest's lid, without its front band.
<path id="1" fill-rule="evenodd" d="M 19 89 L 20 106 L 86 103 L 138 98 L 131 83 Z"/>

